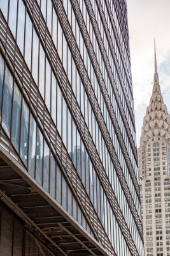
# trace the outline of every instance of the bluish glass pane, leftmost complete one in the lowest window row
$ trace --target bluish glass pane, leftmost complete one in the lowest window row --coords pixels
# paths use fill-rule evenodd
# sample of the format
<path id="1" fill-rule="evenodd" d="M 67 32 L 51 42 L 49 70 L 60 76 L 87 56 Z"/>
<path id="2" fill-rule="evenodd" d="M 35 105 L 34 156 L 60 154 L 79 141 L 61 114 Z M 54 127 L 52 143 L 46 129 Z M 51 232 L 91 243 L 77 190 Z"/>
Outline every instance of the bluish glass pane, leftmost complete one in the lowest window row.
<path id="1" fill-rule="evenodd" d="M 10 136 L 11 127 L 11 104 L 12 104 L 12 92 L 13 92 L 13 77 L 10 70 L 6 67 L 5 80 L 4 80 L 4 92 L 3 92 L 3 129 Z"/>

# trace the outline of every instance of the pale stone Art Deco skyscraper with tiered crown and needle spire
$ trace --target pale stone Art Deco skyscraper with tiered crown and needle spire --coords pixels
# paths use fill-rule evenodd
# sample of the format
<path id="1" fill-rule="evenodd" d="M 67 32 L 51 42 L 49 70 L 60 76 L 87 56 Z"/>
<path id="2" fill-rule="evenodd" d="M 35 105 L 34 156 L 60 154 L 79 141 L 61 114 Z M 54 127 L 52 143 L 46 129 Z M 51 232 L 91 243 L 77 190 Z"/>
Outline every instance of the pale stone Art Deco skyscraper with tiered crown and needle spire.
<path id="1" fill-rule="evenodd" d="M 170 118 L 155 74 L 138 148 L 145 256 L 170 255 Z"/>

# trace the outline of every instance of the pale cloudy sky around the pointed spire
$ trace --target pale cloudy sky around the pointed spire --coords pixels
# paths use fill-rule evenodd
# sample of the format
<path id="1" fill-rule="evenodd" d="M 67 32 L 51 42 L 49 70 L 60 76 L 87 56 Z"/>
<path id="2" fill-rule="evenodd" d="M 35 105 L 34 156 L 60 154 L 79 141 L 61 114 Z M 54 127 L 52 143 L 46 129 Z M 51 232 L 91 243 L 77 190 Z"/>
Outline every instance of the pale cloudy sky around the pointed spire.
<path id="1" fill-rule="evenodd" d="M 164 103 L 170 113 L 170 1 L 127 0 L 137 145 L 150 102 L 154 74 L 154 38 L 157 69 Z"/>

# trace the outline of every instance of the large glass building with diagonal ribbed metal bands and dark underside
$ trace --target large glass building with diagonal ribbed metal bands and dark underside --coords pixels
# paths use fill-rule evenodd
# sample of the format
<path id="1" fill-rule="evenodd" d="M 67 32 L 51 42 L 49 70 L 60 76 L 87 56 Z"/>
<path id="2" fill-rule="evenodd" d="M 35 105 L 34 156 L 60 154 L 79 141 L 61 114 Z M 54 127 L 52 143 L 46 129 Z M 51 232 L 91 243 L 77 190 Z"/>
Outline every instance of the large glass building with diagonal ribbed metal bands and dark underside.
<path id="1" fill-rule="evenodd" d="M 0 113 L 0 254 L 144 255 L 125 0 L 0 0 Z"/>

